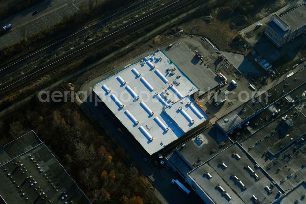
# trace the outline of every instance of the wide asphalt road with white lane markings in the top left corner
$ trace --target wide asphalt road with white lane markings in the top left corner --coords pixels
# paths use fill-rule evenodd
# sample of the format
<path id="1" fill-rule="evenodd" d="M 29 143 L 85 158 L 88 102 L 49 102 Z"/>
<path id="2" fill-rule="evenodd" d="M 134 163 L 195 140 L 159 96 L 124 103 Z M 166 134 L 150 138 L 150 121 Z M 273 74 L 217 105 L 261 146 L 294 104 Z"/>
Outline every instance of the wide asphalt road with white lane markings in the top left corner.
<path id="1" fill-rule="evenodd" d="M 87 1 L 87 0 L 82 0 Z M 24 9 L 0 21 L 0 26 L 13 24 L 11 30 L 0 36 L 0 48 L 18 42 L 22 38 L 21 30 L 30 35 L 39 31 L 42 26 L 54 25 L 64 17 L 77 11 L 81 0 L 45 0 L 35 6 Z M 75 6 L 74 6 L 74 5 Z M 32 16 L 32 13 L 38 11 Z"/>

